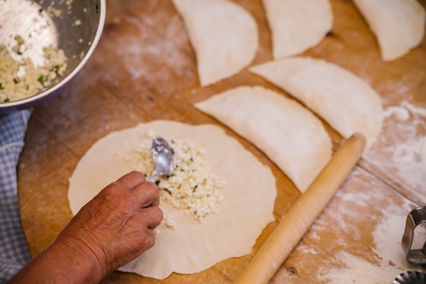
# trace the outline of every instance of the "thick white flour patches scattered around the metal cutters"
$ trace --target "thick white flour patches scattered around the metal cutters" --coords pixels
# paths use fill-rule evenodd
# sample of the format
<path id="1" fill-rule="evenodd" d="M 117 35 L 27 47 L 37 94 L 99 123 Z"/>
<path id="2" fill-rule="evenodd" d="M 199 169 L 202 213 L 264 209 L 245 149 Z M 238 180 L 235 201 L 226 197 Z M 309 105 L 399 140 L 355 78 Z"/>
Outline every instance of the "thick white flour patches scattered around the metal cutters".
<path id="1" fill-rule="evenodd" d="M 356 176 L 351 175 L 351 182 L 349 190 L 353 190 L 354 187 L 362 186 L 364 181 L 354 180 L 358 179 Z M 370 182 L 371 183 L 371 182 Z M 366 183 L 364 185 L 367 185 Z M 371 207 L 371 202 L 374 200 L 377 204 L 383 205 L 383 217 L 371 216 L 371 221 L 378 221 L 376 228 L 374 229 L 373 236 L 373 247 L 371 251 L 364 249 L 364 258 L 369 259 L 367 261 L 359 256 L 354 256 L 346 251 L 339 251 L 331 261 L 331 265 L 324 266 L 318 272 L 319 280 L 327 280 L 327 283 L 345 284 L 345 283 L 392 283 L 395 277 L 403 273 L 404 271 L 422 271 L 421 266 L 412 266 L 405 261 L 405 255 L 401 248 L 401 239 L 405 228 L 405 220 L 408 212 L 417 207 L 417 205 L 404 201 L 403 204 L 393 204 L 388 202 L 390 196 L 381 195 L 378 188 L 373 185 L 370 186 L 367 192 L 352 193 L 345 190 L 344 192 L 338 192 L 338 196 L 341 199 L 339 202 L 340 206 L 336 219 L 348 219 L 351 214 L 351 210 L 347 209 L 351 207 L 351 204 L 356 204 L 356 212 L 363 212 L 362 207 Z M 376 192 L 375 192 L 376 191 Z M 395 193 L 393 193 L 394 195 Z M 381 196 L 380 196 L 381 195 Z M 367 210 L 364 210 L 365 212 Z M 359 213 L 359 219 L 366 219 L 368 213 Z M 353 216 L 353 212 L 352 212 Z M 342 226 L 344 231 L 354 230 L 356 224 L 347 224 Z M 322 226 L 317 226 L 315 229 L 318 230 Z M 322 229 L 327 228 L 324 226 Z M 354 231 L 355 233 L 355 231 Z M 422 246 L 426 240 L 425 227 L 417 227 L 416 229 L 417 247 Z M 368 233 L 370 234 L 370 233 Z M 364 236 L 365 237 L 365 236 Z M 362 236 L 356 236 L 354 239 L 361 239 Z M 306 249 L 305 249 L 306 250 Z M 358 250 L 356 250 L 358 252 Z M 362 252 L 361 252 L 362 253 Z M 330 266 L 339 267 L 329 269 Z M 344 268 L 341 268 L 341 267 Z"/>

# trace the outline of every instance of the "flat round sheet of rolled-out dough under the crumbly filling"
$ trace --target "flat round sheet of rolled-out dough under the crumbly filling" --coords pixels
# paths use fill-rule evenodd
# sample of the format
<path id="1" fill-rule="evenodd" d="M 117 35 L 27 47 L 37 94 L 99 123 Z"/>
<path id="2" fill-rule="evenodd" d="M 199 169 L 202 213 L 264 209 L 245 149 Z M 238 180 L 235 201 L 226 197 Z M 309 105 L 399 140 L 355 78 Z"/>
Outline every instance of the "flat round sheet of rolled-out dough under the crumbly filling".
<path id="1" fill-rule="evenodd" d="M 172 272 L 197 273 L 226 258 L 250 253 L 263 228 L 274 221 L 275 178 L 268 167 L 218 126 L 152 121 L 109 133 L 89 148 L 70 178 L 72 213 L 110 182 L 133 170 L 132 163 L 123 157 L 131 158 L 141 143 L 151 145 L 147 138 L 150 130 L 165 138 L 189 138 L 195 146 L 204 148 L 204 160 L 219 179 L 226 180 L 227 190 L 217 206 L 219 212 L 205 218 L 204 224 L 184 210 L 161 203 L 164 215 L 173 214 L 178 229 L 160 224 L 155 246 L 120 270 L 163 279 Z"/>

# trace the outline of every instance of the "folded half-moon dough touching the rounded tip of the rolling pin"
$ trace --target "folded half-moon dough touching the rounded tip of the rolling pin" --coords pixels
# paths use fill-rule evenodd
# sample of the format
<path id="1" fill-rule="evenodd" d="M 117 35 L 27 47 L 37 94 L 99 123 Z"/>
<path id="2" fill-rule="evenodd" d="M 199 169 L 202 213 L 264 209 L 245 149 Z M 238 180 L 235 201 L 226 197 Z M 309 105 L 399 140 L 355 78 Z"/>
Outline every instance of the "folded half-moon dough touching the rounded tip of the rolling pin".
<path id="1" fill-rule="evenodd" d="M 380 97 L 366 82 L 342 67 L 321 59 L 287 58 L 250 68 L 320 115 L 344 138 L 366 137 L 366 151 L 383 124 Z"/>

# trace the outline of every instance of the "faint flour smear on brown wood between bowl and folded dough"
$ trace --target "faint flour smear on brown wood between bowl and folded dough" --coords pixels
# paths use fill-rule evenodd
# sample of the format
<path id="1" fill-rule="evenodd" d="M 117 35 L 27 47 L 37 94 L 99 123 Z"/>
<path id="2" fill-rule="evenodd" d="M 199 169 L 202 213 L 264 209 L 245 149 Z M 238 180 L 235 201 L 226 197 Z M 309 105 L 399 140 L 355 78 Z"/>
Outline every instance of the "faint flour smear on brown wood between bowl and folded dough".
<path id="1" fill-rule="evenodd" d="M 118 58 L 108 65 L 109 70 L 114 72 L 94 72 L 92 77 L 114 86 L 138 82 L 132 83 L 133 92 L 155 89 L 162 94 L 173 94 L 178 86 L 165 82 L 177 82 L 186 76 L 188 70 L 195 70 L 190 55 L 182 51 L 180 45 L 173 40 L 165 40 L 141 19 L 119 16 L 112 23 L 118 31 L 111 28 L 110 32 L 106 32 L 97 48 L 97 52 L 103 53 L 103 56 L 94 57 L 93 60 L 104 67 L 104 56 Z M 124 26 L 126 30 L 123 30 Z M 195 82 L 196 76 L 191 78 Z"/>

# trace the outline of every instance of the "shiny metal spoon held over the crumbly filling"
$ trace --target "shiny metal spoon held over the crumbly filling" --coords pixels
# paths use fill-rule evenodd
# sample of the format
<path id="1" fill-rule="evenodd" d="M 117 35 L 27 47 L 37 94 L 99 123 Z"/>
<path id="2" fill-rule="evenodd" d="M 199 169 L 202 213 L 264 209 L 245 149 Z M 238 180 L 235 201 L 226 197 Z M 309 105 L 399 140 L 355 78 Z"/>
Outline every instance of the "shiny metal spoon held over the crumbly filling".
<path id="1" fill-rule="evenodd" d="M 155 170 L 153 176 L 149 178 L 149 182 L 154 182 L 160 175 L 172 175 L 176 168 L 176 161 L 173 152 L 165 139 L 156 136 L 153 139 L 151 153 L 155 161 Z"/>

